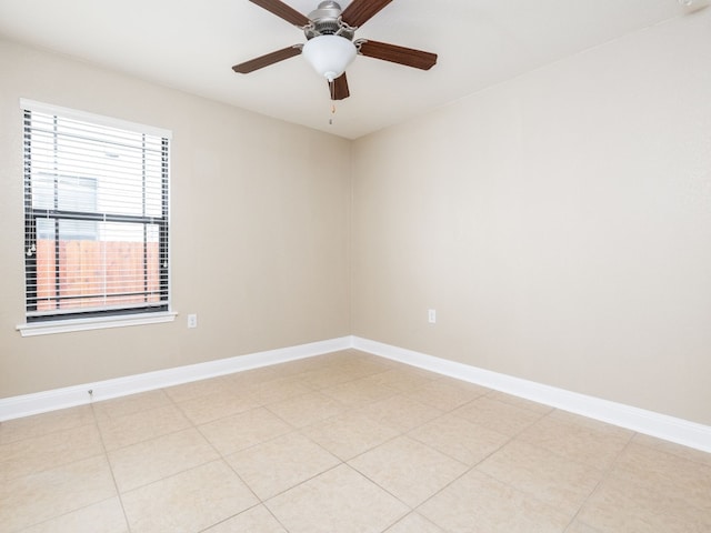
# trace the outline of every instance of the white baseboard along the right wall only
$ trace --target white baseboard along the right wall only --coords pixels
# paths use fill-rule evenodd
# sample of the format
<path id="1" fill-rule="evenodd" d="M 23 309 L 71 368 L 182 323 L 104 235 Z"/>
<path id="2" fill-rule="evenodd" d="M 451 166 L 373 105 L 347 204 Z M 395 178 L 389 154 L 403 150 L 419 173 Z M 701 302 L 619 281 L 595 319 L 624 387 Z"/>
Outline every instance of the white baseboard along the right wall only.
<path id="1" fill-rule="evenodd" d="M 352 348 L 711 453 L 711 426 L 358 336 Z"/>

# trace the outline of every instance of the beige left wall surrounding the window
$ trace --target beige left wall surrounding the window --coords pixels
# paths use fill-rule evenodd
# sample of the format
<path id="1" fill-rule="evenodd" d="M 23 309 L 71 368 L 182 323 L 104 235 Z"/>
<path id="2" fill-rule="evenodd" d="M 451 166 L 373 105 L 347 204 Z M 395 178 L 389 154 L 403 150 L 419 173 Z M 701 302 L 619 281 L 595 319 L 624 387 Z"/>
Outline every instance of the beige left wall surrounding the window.
<path id="1" fill-rule="evenodd" d="M 172 130 L 174 323 L 16 331 L 20 98 Z M 346 140 L 0 41 L 0 398 L 349 334 L 350 177 L 331 171 L 349 159 Z"/>

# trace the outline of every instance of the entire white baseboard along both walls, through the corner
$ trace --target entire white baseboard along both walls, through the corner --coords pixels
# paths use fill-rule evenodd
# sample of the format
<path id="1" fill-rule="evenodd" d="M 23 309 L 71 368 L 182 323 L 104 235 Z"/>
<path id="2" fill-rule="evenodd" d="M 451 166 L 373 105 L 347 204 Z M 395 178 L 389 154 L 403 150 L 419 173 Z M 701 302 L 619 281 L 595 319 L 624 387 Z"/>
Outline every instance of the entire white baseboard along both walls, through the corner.
<path id="1" fill-rule="evenodd" d="M 84 405 L 92 401 L 152 391 L 349 348 L 711 453 L 711 426 L 708 425 L 478 369 L 359 336 L 342 336 L 208 361 L 206 363 L 0 399 L 0 421 Z M 91 395 L 88 391 L 92 391 Z"/>

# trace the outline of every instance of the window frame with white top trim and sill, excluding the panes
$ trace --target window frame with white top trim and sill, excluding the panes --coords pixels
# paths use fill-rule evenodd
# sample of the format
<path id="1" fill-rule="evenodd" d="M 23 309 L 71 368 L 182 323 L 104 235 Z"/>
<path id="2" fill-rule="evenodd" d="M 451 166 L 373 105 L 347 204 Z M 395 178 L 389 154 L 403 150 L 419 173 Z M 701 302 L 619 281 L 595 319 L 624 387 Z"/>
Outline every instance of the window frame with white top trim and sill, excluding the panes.
<path id="1" fill-rule="evenodd" d="M 61 108 L 57 105 L 36 102 L 32 100 L 21 99 L 20 108 L 22 113 L 22 147 L 23 147 L 23 225 L 24 225 L 24 318 L 26 323 L 18 325 L 18 330 L 26 335 L 54 333 L 64 331 L 79 331 L 98 328 L 116 328 L 122 325 L 138 325 L 143 323 L 157 323 L 168 322 L 174 320 L 177 313 L 171 311 L 170 303 L 170 140 L 172 133 L 169 130 L 139 124 L 136 122 L 129 122 L 124 120 L 113 119 L 110 117 L 98 115 L 93 113 L 87 113 L 68 108 Z M 93 127 L 107 127 L 111 129 L 128 130 L 133 133 L 140 133 L 143 135 L 151 135 L 160 138 L 160 158 L 162 161 L 160 170 L 160 217 L 149 217 L 143 209 L 143 213 L 140 215 L 133 214 L 110 214 L 101 213 L 98 210 L 91 211 L 71 211 L 59 209 L 59 204 L 54 202 L 52 208 L 38 208 L 32 204 L 32 191 L 30 189 L 30 165 L 26 150 L 30 143 L 31 132 L 28 127 L 28 115 L 31 113 L 43 113 L 59 119 L 78 120 L 89 123 Z M 31 147 L 30 147 L 31 148 Z M 141 149 L 139 149 L 141 150 Z M 146 148 L 142 149 L 143 154 Z M 144 155 L 143 155 L 144 157 Z M 146 180 L 146 177 L 142 178 Z M 57 180 L 57 178 L 54 178 Z M 144 191 L 146 182 L 142 183 L 142 190 Z M 57 181 L 54 181 L 54 188 Z M 144 197 L 143 192 L 143 197 Z M 146 199 L 143 198 L 143 205 Z M 54 243 L 60 240 L 59 232 L 57 231 L 60 220 L 80 220 L 80 221 L 96 221 L 98 223 L 138 223 L 143 224 L 143 251 L 144 261 L 147 253 L 147 224 L 156 225 L 158 229 L 158 258 L 159 258 L 159 271 L 158 271 L 158 290 L 159 300 L 157 303 L 141 304 L 124 304 L 110 305 L 104 304 L 102 309 L 93 308 L 91 310 L 82 311 L 81 308 L 76 310 L 61 310 L 57 309 L 54 312 L 38 313 L 37 301 L 37 254 L 30 253 L 33 242 L 38 237 L 37 223 L 32 224 L 32 221 L 38 219 L 52 220 L 54 225 Z M 37 247 L 33 249 L 37 250 Z M 59 276 L 60 269 L 57 265 L 54 269 L 56 276 Z M 154 272 L 154 271 L 153 271 Z M 57 278 L 58 279 L 58 278 Z M 140 294 L 147 294 L 140 292 Z M 62 300 L 62 296 L 57 294 L 57 302 Z M 64 296 L 66 298 L 66 296 Z M 71 296 L 70 296 L 71 298 Z"/>

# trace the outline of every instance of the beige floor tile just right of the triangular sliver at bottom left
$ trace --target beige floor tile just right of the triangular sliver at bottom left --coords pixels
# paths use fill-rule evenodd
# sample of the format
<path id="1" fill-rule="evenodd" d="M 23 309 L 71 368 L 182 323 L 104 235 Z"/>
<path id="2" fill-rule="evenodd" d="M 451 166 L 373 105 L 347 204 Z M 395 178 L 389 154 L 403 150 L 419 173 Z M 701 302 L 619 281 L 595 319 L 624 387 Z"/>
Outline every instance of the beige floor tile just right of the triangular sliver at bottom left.
<path id="1" fill-rule="evenodd" d="M 193 533 L 259 503 L 223 461 L 157 481 L 122 500 L 132 533 Z"/>

